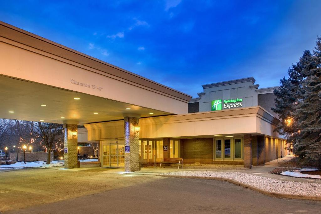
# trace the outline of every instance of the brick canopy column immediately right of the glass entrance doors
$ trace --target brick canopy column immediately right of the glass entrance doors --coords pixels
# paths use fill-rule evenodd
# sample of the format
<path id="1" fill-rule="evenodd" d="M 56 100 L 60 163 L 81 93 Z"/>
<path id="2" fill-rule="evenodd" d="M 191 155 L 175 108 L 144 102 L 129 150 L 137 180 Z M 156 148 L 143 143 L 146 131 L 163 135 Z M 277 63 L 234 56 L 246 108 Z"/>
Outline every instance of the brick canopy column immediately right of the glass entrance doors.
<path id="1" fill-rule="evenodd" d="M 130 153 L 125 153 L 125 171 L 139 171 L 139 133 L 135 132 L 135 125 L 139 124 L 139 118 L 125 117 L 125 146 L 130 146 Z M 142 151 L 143 153 L 143 151 Z"/>

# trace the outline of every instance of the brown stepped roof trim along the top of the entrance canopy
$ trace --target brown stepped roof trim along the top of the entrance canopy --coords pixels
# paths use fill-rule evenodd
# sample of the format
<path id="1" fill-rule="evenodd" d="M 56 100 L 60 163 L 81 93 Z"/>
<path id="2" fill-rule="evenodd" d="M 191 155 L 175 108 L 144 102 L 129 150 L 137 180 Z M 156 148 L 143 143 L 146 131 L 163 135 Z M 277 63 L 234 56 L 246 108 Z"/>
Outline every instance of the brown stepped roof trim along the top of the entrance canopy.
<path id="1" fill-rule="evenodd" d="M 0 36 L 12 41 L 24 44 L 29 47 L 65 58 L 67 60 L 79 63 L 102 72 L 117 76 L 119 78 L 131 81 L 142 86 L 161 91 L 173 97 L 181 98 L 189 101 L 192 96 L 187 95 L 175 89 L 171 89 L 165 85 L 149 80 L 132 72 L 126 71 L 115 65 L 108 64 L 99 59 L 85 55 L 81 52 L 75 51 L 71 48 L 65 47 L 48 39 L 42 38 L 38 35 L 32 34 L 28 31 L 14 27 L 7 23 L 0 21 Z"/>

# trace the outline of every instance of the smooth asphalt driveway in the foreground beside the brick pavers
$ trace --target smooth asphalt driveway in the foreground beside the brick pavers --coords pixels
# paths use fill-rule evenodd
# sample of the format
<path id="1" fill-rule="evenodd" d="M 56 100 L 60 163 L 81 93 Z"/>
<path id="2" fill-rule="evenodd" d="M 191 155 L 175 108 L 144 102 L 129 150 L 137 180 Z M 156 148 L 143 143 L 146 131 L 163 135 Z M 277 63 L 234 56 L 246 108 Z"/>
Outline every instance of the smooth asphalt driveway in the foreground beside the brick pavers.
<path id="1" fill-rule="evenodd" d="M 10 213 L 320 212 L 319 201 L 274 198 L 224 181 L 165 178 Z"/>

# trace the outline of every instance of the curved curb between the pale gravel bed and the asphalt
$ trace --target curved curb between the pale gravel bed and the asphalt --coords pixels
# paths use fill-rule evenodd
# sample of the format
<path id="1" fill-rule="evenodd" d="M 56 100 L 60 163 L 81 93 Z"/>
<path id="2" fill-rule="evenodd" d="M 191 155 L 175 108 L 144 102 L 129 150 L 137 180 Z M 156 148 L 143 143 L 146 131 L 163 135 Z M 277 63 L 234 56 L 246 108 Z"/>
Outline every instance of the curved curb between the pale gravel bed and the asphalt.
<path id="1" fill-rule="evenodd" d="M 142 174 L 140 174 L 142 175 Z M 143 174 L 148 175 L 148 174 Z M 160 177 L 174 177 L 174 178 L 193 178 L 193 179 L 204 179 L 204 180 L 216 180 L 216 181 L 227 181 L 232 184 L 236 184 L 239 186 L 246 187 L 248 189 L 254 190 L 256 192 L 262 193 L 264 195 L 273 196 L 277 198 L 288 198 L 288 199 L 303 199 L 303 200 L 313 200 L 313 201 L 321 201 L 321 197 L 316 196 L 305 196 L 305 195 L 292 195 L 292 194 L 284 194 L 284 193 L 272 193 L 269 191 L 265 191 L 262 189 L 259 189 L 255 186 L 251 186 L 248 184 L 244 184 L 242 182 L 230 179 L 230 178 L 223 178 L 223 177 L 200 177 L 200 176 L 183 176 L 183 175 L 156 175 Z"/>

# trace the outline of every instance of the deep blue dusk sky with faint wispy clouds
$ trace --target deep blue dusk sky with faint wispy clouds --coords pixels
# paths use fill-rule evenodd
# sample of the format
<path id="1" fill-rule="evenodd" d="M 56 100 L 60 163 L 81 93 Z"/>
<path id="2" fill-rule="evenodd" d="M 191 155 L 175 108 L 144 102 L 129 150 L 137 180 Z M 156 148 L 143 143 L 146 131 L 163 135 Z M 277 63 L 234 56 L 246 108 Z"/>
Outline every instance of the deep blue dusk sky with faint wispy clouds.
<path id="1" fill-rule="evenodd" d="M 0 1 L 0 20 L 197 97 L 279 85 L 321 35 L 321 1 Z"/>

